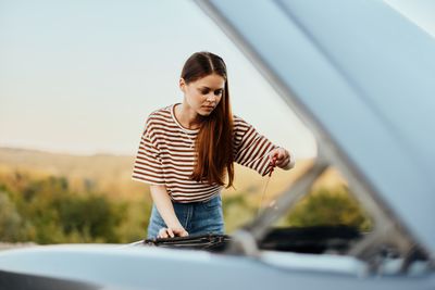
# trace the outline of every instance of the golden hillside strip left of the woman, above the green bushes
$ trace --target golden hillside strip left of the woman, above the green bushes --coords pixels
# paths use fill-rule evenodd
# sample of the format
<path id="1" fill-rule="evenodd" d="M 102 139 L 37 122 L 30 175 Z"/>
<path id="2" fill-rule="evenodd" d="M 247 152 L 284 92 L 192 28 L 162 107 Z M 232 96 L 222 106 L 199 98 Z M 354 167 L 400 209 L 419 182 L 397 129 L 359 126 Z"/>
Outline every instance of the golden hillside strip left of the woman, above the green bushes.
<path id="1" fill-rule="evenodd" d="M 128 200 L 148 196 L 146 185 L 130 180 L 134 156 L 88 156 L 0 148 L 0 178 L 11 177 L 16 172 L 32 178 L 64 176 L 78 193 L 88 189 Z"/>

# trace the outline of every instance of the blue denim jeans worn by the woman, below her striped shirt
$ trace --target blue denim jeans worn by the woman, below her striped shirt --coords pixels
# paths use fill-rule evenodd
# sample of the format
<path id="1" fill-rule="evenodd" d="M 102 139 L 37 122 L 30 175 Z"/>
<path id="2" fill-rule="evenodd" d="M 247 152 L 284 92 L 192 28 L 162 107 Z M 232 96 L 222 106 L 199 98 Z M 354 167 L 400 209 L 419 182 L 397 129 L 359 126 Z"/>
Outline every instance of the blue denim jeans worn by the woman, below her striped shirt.
<path id="1" fill-rule="evenodd" d="M 172 204 L 174 205 L 175 215 L 182 226 L 189 232 L 189 236 L 224 234 L 225 226 L 220 193 L 206 202 L 181 203 L 172 201 Z M 153 203 L 147 239 L 156 238 L 162 227 L 167 226 Z"/>

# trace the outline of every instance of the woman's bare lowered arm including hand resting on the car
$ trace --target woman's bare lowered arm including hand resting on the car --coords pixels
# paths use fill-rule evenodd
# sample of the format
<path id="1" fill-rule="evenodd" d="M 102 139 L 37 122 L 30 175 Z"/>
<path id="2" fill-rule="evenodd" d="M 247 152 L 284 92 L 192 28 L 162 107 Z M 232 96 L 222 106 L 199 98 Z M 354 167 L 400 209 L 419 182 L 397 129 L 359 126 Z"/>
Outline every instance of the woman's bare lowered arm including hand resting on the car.
<path id="1" fill-rule="evenodd" d="M 151 198 L 167 226 L 167 229 L 159 231 L 159 236 L 162 238 L 167 238 L 167 236 L 171 238 L 174 236 L 188 236 L 188 232 L 184 229 L 175 215 L 174 205 L 172 204 L 171 198 L 166 191 L 166 187 L 161 185 L 151 185 L 150 191 Z"/>

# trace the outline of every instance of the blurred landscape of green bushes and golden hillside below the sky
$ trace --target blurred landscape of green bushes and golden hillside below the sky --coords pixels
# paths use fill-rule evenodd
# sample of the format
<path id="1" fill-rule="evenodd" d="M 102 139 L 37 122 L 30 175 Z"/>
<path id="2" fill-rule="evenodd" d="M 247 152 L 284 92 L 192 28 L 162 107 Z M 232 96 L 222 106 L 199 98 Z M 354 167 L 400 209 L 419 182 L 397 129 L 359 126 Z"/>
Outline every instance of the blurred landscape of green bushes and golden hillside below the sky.
<path id="1" fill-rule="evenodd" d="M 0 242 L 128 243 L 146 237 L 152 201 L 148 186 L 130 180 L 132 157 L 55 156 L 53 161 L 52 155 L 38 155 L 41 152 L 18 155 L 23 154 L 26 163 L 40 161 L 30 167 L 17 166 L 16 152 L 4 157 L 0 150 Z M 47 169 L 38 164 L 57 166 Z M 235 188 L 222 193 L 226 232 L 251 220 L 260 205 L 276 201 L 310 164 L 300 161 L 293 171 L 275 171 L 262 204 L 266 179 L 237 165 Z M 370 218 L 333 168 L 274 226 L 313 225 L 371 229 Z"/>

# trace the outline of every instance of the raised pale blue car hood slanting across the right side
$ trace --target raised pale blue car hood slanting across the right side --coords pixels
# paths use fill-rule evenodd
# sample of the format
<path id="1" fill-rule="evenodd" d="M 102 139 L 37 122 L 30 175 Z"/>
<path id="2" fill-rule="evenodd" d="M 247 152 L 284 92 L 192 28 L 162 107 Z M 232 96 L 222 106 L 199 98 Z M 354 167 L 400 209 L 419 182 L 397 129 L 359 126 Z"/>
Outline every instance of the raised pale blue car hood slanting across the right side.
<path id="1" fill-rule="evenodd" d="M 197 3 L 358 180 L 357 196 L 433 256 L 435 40 L 382 1 Z"/>

